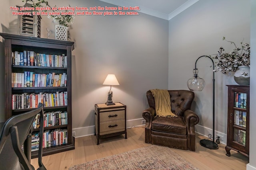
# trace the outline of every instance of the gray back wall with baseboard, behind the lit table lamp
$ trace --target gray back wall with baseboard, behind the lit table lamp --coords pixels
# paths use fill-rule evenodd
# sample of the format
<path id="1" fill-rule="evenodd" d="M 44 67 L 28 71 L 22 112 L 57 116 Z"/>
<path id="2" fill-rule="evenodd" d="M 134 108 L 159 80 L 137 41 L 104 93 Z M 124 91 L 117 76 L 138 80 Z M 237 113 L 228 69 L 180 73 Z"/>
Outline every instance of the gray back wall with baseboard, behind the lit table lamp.
<path id="1" fill-rule="evenodd" d="M 113 6 L 98 0 L 48 1 L 51 6 Z M 11 0 L 10 5 L 24 2 Z M 10 16 L 15 22 L 16 17 Z M 43 16 L 54 30 L 52 19 Z M 110 86 L 107 74 L 116 74 L 113 101 L 127 105 L 128 126 L 141 125 L 148 107 L 146 91 L 168 87 L 168 21 L 138 16 L 76 16 L 70 28 L 72 51 L 72 126 L 76 136 L 94 133 L 94 104 L 105 103 Z M 54 39 L 54 31 L 50 38 Z"/>

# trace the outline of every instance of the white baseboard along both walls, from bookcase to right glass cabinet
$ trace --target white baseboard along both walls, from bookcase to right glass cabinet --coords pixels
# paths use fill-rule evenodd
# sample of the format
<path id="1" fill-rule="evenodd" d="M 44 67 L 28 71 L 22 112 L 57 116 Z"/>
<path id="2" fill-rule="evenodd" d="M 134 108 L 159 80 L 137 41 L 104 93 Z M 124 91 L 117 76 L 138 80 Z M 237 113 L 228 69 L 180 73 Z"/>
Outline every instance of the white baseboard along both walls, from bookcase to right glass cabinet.
<path id="1" fill-rule="evenodd" d="M 126 121 L 126 127 L 134 127 L 134 126 L 142 126 L 145 124 L 142 124 L 141 121 L 145 120 L 144 118 L 141 119 L 133 119 L 133 120 L 128 120 Z M 88 126 L 88 127 L 80 127 L 80 128 L 74 128 L 72 129 L 72 132 L 75 132 L 76 135 L 74 137 L 83 137 L 83 136 L 88 136 L 88 135 L 94 135 L 94 129 L 95 126 Z M 195 126 L 195 131 L 196 133 L 203 135 L 208 138 L 208 134 L 212 134 L 212 129 L 209 129 L 207 127 L 203 127 L 201 125 L 196 125 Z M 215 137 L 216 135 L 221 135 L 224 140 L 220 141 L 220 143 L 226 144 L 227 143 L 227 135 L 218 131 L 215 131 Z"/>

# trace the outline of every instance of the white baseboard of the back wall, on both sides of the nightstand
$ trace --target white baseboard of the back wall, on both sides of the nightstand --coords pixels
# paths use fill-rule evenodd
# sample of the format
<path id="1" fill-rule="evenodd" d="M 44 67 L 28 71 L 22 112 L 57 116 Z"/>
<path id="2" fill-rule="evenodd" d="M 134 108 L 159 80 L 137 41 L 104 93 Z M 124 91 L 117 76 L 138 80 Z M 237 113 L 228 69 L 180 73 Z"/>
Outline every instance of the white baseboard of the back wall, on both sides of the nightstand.
<path id="1" fill-rule="evenodd" d="M 134 126 L 145 125 L 145 124 L 141 123 L 142 120 L 145 120 L 145 119 L 141 118 L 141 119 L 127 120 L 126 127 L 129 128 L 129 127 L 134 127 Z M 76 133 L 76 135 L 74 136 L 76 138 L 76 137 L 94 135 L 94 129 L 95 129 L 95 126 L 79 127 L 79 128 L 72 129 L 72 132 Z"/>

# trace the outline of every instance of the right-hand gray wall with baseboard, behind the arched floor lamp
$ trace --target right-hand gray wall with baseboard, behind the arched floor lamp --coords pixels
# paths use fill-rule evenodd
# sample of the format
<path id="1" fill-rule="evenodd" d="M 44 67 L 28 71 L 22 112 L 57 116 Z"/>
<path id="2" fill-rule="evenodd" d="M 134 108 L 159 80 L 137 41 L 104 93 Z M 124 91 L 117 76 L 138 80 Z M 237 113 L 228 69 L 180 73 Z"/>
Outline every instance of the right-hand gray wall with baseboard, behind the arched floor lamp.
<path id="1" fill-rule="evenodd" d="M 193 76 L 196 59 L 216 54 L 221 46 L 229 52 L 234 48 L 222 37 L 236 42 L 250 43 L 250 0 L 200 0 L 169 21 L 169 89 L 188 89 L 187 80 Z M 214 56 L 214 55 L 213 55 Z M 201 58 L 197 62 L 199 76 L 206 85 L 195 92 L 194 110 L 200 117 L 196 131 L 212 134 L 212 61 Z M 215 131 L 227 132 L 227 84 L 236 84 L 230 74 L 215 74 Z M 215 134 L 216 134 L 215 133 Z"/>

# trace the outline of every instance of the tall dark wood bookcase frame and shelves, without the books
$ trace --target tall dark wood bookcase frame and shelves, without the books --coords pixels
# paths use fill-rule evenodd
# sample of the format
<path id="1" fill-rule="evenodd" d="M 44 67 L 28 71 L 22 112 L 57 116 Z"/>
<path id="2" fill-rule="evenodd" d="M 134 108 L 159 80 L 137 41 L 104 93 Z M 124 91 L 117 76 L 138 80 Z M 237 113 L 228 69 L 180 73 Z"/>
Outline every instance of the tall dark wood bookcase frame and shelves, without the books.
<path id="1" fill-rule="evenodd" d="M 32 108 L 26 109 L 13 109 L 13 94 L 22 93 L 55 93 L 55 92 L 67 92 L 67 105 L 64 106 L 53 106 L 44 107 L 44 111 L 67 111 L 67 124 L 66 125 L 54 125 L 50 127 L 44 127 L 44 130 L 54 130 L 54 129 L 67 129 L 67 143 L 63 145 L 56 145 L 51 147 L 46 147 L 43 149 L 43 156 L 49 154 L 55 154 L 58 152 L 64 152 L 67 150 L 72 150 L 74 146 L 74 137 L 72 137 L 72 83 L 71 83 L 71 52 L 74 49 L 74 42 L 70 41 L 60 41 L 54 39 L 44 39 L 37 37 L 28 37 L 22 35 L 12 35 L 7 33 L 0 33 L 4 38 L 4 48 L 5 48 L 5 120 L 9 119 L 13 115 L 18 115 Z M 52 66 L 24 66 L 13 64 L 12 53 L 15 51 L 34 51 L 36 53 L 49 54 L 49 55 L 65 55 L 67 66 L 66 67 L 52 67 Z M 49 74 L 51 72 L 56 72 L 57 74 L 66 73 L 67 80 L 66 86 L 46 86 L 46 87 L 12 87 L 12 73 L 13 72 L 36 72 L 39 74 Z M 34 129 L 34 131 L 39 131 L 39 129 Z M 38 151 L 32 151 L 32 158 L 36 158 Z"/>

